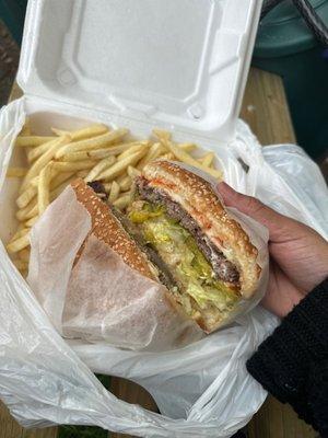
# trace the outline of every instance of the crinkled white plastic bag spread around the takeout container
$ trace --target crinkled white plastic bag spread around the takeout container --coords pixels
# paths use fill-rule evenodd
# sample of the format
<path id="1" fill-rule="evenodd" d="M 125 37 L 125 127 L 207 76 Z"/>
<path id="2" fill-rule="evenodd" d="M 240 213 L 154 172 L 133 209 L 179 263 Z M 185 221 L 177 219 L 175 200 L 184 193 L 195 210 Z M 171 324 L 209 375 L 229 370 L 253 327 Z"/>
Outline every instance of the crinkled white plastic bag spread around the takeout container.
<path id="1" fill-rule="evenodd" d="M 24 112 L 24 100 L 1 112 L 1 183 Z M 241 123 L 236 141 L 218 153 L 229 184 L 327 237 L 327 187 L 298 148 L 262 150 Z M 249 166 L 248 173 L 238 159 Z M 301 178 L 311 184 L 304 187 Z M 85 348 L 79 342 L 69 346 L 57 334 L 2 245 L 0 278 L 0 397 L 23 426 L 89 424 L 140 437 L 226 438 L 250 419 L 266 397 L 245 368 L 277 324 L 260 307 L 184 349 L 159 354 L 109 345 Z M 117 400 L 90 369 L 142 384 L 163 415 Z"/>

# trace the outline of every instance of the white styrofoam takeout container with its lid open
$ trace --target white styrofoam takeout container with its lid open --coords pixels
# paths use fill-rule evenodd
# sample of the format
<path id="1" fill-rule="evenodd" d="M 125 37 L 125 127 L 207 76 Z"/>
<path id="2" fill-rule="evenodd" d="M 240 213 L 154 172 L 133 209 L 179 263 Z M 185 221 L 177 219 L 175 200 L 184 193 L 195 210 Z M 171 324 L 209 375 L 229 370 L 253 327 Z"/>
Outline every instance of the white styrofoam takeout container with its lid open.
<path id="1" fill-rule="evenodd" d="M 234 138 L 261 0 L 30 0 L 17 81 L 39 135 L 103 122 L 216 150 Z M 11 164 L 24 163 L 14 151 Z M 16 229 L 19 181 L 0 194 Z"/>

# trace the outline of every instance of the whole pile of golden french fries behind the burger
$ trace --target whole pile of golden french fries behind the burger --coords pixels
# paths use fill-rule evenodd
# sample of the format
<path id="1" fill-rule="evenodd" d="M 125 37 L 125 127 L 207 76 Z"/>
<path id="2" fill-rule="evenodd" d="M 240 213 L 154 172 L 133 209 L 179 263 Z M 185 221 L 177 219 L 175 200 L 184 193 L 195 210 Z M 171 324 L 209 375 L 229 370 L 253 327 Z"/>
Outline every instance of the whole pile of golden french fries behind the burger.
<path id="1" fill-rule="evenodd" d="M 125 211 L 132 200 L 133 180 L 153 160 L 168 159 L 191 164 L 215 178 L 214 153 L 195 158 L 195 143 L 175 143 L 168 131 L 154 129 L 148 140 L 126 140 L 128 130 L 109 129 L 103 124 L 68 131 L 51 128 L 54 136 L 36 136 L 26 123 L 16 139 L 25 148 L 28 168 L 9 168 L 8 177 L 22 177 L 16 198 L 17 231 L 7 245 L 14 263 L 26 273 L 30 261 L 30 231 L 48 205 L 75 178 L 99 181 L 108 201 Z M 154 140 L 155 138 L 155 140 Z"/>

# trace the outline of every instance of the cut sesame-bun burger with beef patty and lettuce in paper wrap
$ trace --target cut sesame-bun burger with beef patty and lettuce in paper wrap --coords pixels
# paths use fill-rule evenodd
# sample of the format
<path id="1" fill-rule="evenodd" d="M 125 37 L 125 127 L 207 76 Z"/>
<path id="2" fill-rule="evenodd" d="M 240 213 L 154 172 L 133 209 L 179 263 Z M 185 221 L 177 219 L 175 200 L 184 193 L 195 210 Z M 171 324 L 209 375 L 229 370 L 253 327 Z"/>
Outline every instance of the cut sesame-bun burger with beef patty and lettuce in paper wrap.
<path id="1" fill-rule="evenodd" d="M 168 161 L 148 164 L 127 216 L 102 200 L 101 184 L 79 181 L 73 188 L 93 232 L 130 267 L 164 284 L 169 301 L 204 332 L 221 326 L 257 290 L 258 251 L 200 176 Z M 104 218 L 95 220 L 93 203 L 101 203 Z"/>

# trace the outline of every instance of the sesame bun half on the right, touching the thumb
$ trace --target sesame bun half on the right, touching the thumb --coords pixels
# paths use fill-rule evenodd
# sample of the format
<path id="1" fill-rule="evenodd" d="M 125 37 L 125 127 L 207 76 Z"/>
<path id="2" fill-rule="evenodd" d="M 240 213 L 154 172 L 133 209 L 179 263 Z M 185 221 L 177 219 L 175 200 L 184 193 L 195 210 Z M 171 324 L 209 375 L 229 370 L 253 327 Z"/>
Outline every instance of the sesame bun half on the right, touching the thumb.
<path id="1" fill-rule="evenodd" d="M 149 163 L 142 176 L 151 187 L 163 191 L 180 204 L 210 241 L 239 272 L 241 295 L 249 298 L 261 272 L 258 250 L 242 226 L 224 209 L 211 184 L 178 164 L 159 160 Z"/>

